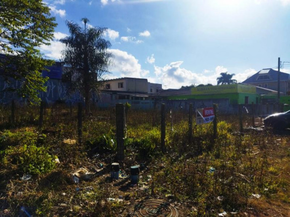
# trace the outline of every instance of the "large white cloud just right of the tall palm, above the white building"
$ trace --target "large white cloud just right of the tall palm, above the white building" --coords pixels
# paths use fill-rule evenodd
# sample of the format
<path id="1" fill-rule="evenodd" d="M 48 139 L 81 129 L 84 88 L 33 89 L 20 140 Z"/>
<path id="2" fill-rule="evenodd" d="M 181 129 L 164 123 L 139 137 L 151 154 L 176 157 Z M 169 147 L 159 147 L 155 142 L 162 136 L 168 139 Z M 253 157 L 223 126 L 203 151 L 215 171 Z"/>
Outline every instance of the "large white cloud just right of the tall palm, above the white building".
<path id="1" fill-rule="evenodd" d="M 136 78 L 142 78 L 149 74 L 148 70 L 141 68 L 138 60 L 133 55 L 117 49 L 110 49 L 110 52 L 114 55 L 113 67 L 111 69 L 114 74 L 118 74 L 120 77 Z"/>

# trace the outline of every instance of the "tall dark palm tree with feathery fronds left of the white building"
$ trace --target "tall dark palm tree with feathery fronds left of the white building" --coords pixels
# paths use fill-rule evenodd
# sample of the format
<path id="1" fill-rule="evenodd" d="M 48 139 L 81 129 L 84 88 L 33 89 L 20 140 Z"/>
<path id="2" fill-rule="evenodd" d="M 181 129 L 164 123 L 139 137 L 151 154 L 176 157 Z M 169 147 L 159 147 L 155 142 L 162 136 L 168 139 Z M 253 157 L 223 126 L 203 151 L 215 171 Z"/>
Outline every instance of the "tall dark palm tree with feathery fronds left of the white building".
<path id="1" fill-rule="evenodd" d="M 66 76 L 73 90 L 79 90 L 85 98 L 88 114 L 91 93 L 98 91 L 104 75 L 109 73 L 112 54 L 108 51 L 111 43 L 103 39 L 107 28 L 88 27 L 89 20 L 83 18 L 84 28 L 66 21 L 70 36 L 60 40 L 65 45 L 62 61 Z"/>

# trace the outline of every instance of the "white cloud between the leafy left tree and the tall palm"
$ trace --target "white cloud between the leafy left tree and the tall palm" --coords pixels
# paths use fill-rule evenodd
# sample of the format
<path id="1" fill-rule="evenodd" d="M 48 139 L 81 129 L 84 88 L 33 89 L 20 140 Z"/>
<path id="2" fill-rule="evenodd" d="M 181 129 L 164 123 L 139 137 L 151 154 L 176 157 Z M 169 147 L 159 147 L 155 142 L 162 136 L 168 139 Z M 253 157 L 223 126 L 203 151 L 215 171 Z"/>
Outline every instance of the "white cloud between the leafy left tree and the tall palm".
<path id="1" fill-rule="evenodd" d="M 66 37 L 67 35 L 60 32 L 54 33 L 54 40 L 50 42 L 50 45 L 40 46 L 40 51 L 45 57 L 50 59 L 59 60 L 61 58 L 61 51 L 63 50 L 63 44 L 59 42 L 59 39 Z"/>

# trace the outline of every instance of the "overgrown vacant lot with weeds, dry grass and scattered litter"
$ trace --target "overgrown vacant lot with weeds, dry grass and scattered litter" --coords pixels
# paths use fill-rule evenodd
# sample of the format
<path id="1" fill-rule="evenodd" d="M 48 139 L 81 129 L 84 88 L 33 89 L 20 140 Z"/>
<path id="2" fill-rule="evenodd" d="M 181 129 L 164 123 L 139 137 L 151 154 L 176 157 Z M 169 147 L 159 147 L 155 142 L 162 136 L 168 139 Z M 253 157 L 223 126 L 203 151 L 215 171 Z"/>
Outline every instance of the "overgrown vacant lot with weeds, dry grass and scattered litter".
<path id="1" fill-rule="evenodd" d="M 179 216 L 290 216 L 288 131 L 240 133 L 236 116 L 219 116 L 217 138 L 212 123 L 193 119 L 189 141 L 188 112 L 168 111 L 162 153 L 160 111 L 129 110 L 125 160 L 112 180 L 114 109 L 92 108 L 81 143 L 75 107 L 46 108 L 42 131 L 38 111 L 16 108 L 9 123 L 10 108 L 1 108 L 0 216 L 127 216 L 134 201 L 149 198 L 168 201 Z M 133 165 L 140 165 L 137 184 Z M 79 183 L 77 171 L 86 173 Z"/>

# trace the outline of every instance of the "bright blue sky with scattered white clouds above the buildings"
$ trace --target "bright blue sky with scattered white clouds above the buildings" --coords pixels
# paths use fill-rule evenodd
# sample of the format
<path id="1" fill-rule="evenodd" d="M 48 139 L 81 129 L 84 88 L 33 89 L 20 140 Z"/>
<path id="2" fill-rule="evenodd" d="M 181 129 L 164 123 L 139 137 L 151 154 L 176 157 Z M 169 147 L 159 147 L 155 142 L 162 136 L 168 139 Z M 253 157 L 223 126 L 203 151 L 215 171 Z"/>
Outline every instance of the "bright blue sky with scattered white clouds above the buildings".
<path id="1" fill-rule="evenodd" d="M 114 55 L 105 79 L 147 78 L 163 89 L 238 82 L 263 68 L 290 73 L 290 0 L 45 0 L 56 17 L 54 40 L 42 46 L 59 60 L 65 21 L 106 27 Z"/>

